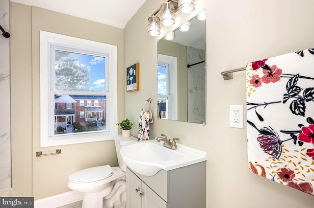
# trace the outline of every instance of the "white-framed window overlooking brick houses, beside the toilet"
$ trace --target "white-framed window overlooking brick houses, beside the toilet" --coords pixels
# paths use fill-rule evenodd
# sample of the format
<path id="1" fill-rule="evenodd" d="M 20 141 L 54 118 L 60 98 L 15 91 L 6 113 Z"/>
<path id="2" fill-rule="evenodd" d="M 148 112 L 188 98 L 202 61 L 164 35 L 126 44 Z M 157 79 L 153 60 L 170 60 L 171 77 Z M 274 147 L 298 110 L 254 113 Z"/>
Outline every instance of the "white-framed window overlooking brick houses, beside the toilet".
<path id="1" fill-rule="evenodd" d="M 116 135 L 117 46 L 40 31 L 40 57 L 41 147 Z"/>

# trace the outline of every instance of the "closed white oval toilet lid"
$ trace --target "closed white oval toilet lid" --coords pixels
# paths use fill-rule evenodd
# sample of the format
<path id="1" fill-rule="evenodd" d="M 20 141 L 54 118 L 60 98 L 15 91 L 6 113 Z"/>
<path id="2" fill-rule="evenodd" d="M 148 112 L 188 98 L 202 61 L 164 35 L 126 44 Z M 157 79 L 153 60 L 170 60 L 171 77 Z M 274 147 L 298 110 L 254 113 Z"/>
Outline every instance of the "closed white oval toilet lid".
<path id="1" fill-rule="evenodd" d="M 110 165 L 90 167 L 69 175 L 70 181 L 77 182 L 93 182 L 103 180 L 110 177 L 113 174 Z"/>

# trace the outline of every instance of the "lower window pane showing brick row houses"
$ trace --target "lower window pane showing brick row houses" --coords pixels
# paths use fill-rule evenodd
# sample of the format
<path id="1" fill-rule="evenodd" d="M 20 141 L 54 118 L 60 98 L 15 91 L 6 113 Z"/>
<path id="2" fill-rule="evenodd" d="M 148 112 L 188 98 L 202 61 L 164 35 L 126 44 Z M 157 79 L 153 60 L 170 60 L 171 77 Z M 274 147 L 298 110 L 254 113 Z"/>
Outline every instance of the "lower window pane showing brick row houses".
<path id="1" fill-rule="evenodd" d="M 98 100 L 98 106 L 80 106 L 81 100 L 87 100 L 88 103 L 88 101 L 95 99 Z M 56 106 L 54 110 L 54 135 L 106 130 L 105 95 L 55 94 L 54 106 Z"/>

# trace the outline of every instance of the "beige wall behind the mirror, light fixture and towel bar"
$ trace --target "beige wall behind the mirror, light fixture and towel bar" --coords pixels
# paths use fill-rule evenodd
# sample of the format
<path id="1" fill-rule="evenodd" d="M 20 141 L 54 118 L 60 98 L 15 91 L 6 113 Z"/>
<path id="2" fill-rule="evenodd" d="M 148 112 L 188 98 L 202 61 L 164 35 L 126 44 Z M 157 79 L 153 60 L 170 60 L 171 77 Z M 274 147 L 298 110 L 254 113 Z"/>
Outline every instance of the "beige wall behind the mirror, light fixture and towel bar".
<path id="1" fill-rule="evenodd" d="M 168 138 L 208 153 L 208 208 L 313 208 L 314 197 L 279 185 L 248 169 L 246 127 L 229 127 L 229 105 L 245 105 L 245 72 L 224 81 L 220 72 L 248 62 L 314 47 L 313 0 L 196 0 L 207 9 L 207 125 L 157 119 L 157 39 L 147 34 L 147 18 L 164 0 L 147 0 L 125 27 L 125 66 L 140 63 L 140 90 L 124 92 L 125 116 L 135 123 L 153 98 L 150 136 Z M 194 11 L 194 15 L 197 11 Z M 192 16 L 192 15 L 191 15 Z M 182 15 L 177 22 L 183 23 Z M 180 23 L 176 23 L 178 26 Z M 192 25 L 193 26 L 193 25 Z M 166 29 L 166 28 L 164 28 Z M 172 28 L 173 29 L 173 28 Z M 125 75 L 124 75 L 125 77 Z"/>

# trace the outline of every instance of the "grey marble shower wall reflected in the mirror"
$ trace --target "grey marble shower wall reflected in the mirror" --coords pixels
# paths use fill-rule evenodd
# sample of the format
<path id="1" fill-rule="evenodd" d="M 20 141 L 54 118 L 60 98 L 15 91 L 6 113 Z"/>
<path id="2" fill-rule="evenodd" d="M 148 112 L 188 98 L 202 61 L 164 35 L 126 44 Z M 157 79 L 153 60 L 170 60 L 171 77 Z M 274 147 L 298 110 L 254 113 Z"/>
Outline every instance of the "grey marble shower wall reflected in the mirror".
<path id="1" fill-rule="evenodd" d="M 187 46 L 187 64 L 205 60 L 205 50 Z M 205 122 L 206 72 L 205 63 L 187 68 L 187 120 L 192 123 Z"/>

